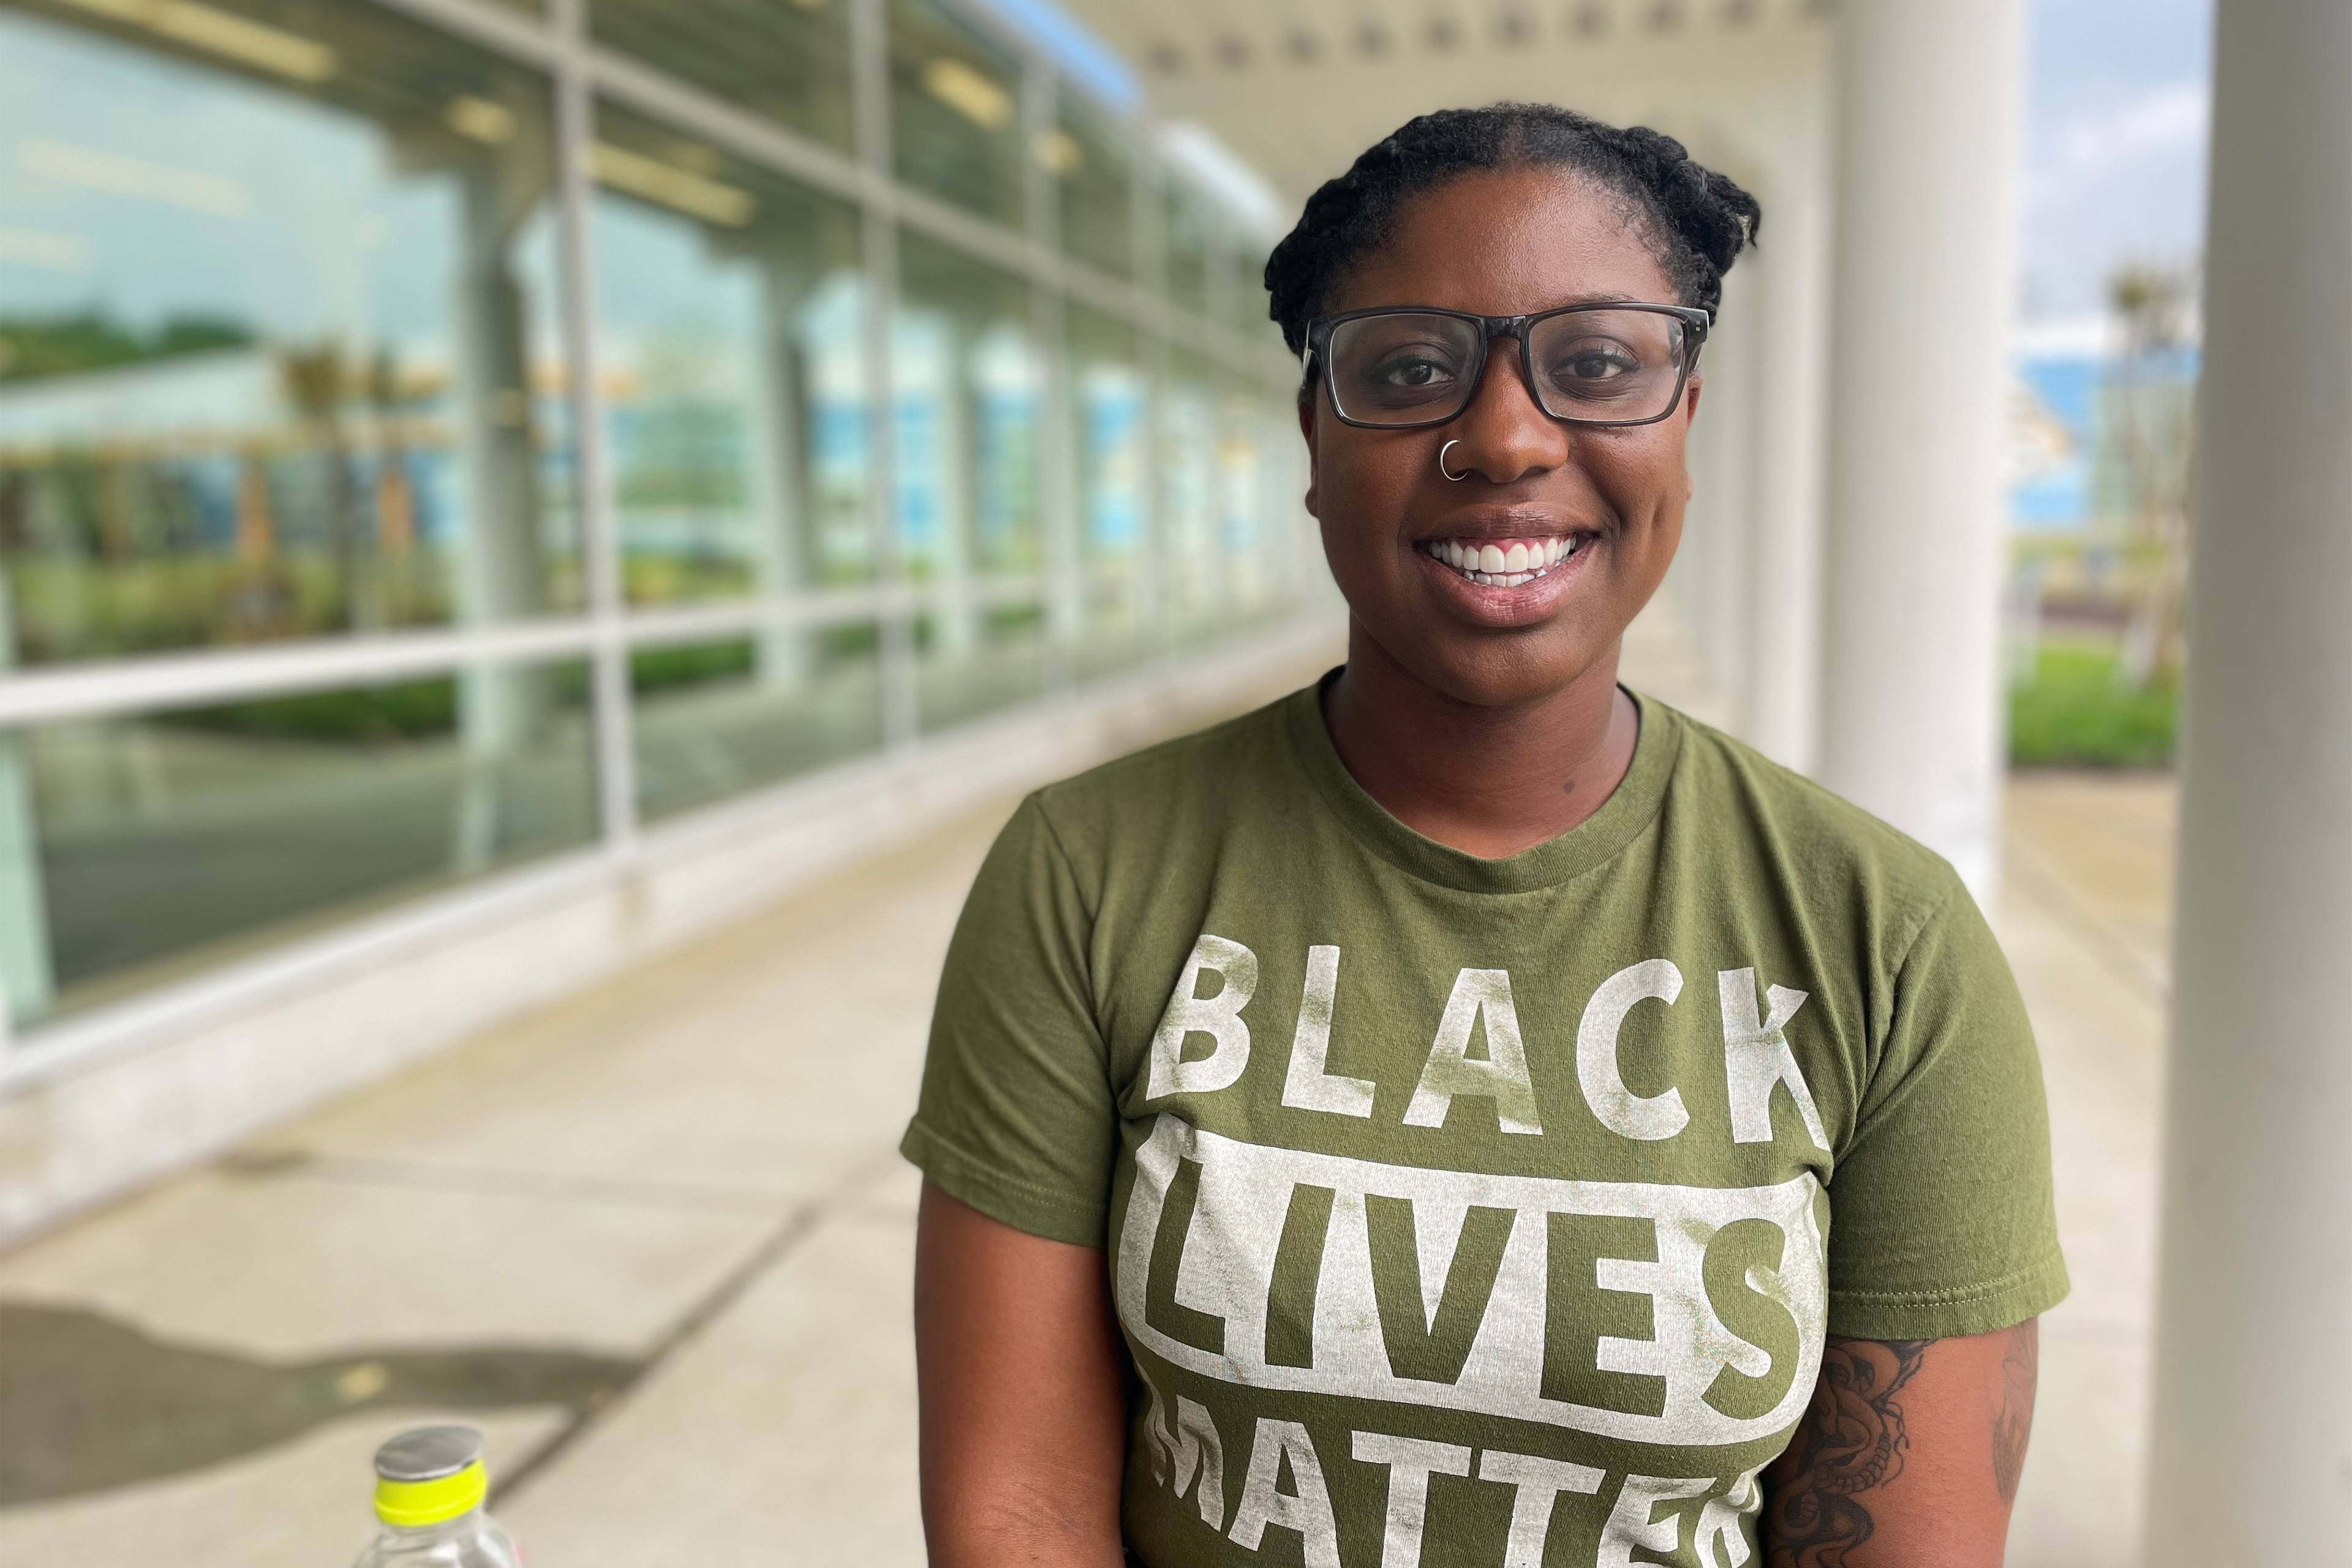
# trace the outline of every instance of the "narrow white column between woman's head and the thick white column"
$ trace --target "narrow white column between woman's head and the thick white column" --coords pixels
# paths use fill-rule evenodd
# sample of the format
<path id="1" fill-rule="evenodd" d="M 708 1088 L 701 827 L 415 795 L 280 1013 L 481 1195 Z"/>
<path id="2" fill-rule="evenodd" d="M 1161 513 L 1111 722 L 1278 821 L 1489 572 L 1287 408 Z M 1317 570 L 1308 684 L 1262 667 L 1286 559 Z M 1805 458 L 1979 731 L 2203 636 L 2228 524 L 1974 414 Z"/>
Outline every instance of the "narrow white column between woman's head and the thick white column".
<path id="1" fill-rule="evenodd" d="M 1755 548 L 1740 738 L 1783 766 L 1820 762 L 1823 458 L 1830 414 L 1830 115 L 1804 94 L 1759 193 Z"/>

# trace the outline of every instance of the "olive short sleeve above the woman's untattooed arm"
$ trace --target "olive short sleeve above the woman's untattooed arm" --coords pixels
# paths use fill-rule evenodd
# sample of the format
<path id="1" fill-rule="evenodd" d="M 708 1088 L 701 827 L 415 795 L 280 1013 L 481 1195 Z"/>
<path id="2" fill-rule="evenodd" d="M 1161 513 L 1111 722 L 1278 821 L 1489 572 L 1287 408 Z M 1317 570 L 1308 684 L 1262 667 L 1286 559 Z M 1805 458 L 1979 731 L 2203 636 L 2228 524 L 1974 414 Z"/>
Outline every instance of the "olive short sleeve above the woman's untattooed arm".
<path id="1" fill-rule="evenodd" d="M 1089 929 L 1070 858 L 1030 797 L 955 922 L 922 1098 L 898 1152 L 993 1220 L 1103 1246 L 1117 1105 Z"/>

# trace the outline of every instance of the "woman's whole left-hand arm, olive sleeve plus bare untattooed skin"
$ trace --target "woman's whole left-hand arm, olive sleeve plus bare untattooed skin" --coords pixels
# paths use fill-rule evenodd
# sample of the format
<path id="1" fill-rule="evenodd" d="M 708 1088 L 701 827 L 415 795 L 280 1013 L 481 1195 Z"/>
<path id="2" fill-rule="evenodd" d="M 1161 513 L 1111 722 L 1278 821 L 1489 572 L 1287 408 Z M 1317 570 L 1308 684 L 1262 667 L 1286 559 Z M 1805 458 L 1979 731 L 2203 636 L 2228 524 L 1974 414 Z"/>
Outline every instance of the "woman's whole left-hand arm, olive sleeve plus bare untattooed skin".
<path id="1" fill-rule="evenodd" d="M 934 1563 L 1120 1554 L 1124 1371 L 1103 1262 L 1117 1105 L 1091 917 L 1040 802 L 988 851 L 938 983 L 906 1157 Z"/>

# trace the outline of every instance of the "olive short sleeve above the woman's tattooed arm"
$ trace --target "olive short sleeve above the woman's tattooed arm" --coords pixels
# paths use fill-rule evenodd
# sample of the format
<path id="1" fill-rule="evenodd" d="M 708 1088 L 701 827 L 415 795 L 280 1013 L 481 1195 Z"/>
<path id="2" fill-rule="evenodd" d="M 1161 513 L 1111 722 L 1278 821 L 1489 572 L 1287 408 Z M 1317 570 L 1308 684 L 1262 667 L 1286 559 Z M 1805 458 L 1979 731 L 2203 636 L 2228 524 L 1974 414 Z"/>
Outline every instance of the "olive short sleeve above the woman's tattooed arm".
<path id="1" fill-rule="evenodd" d="M 2032 1025 L 1955 882 L 1900 957 L 1884 1048 L 1830 1175 L 1830 1333 L 1992 1333 L 2065 1291 Z"/>

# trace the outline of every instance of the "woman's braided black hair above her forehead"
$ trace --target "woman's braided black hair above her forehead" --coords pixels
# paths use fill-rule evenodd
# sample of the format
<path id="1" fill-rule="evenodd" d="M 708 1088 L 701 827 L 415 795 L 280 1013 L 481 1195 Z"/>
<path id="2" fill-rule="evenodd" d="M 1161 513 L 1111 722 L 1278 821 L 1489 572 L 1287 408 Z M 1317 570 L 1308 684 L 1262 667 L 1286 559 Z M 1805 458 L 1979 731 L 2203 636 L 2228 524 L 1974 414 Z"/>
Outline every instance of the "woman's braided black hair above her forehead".
<path id="1" fill-rule="evenodd" d="M 1308 322 L 1324 313 L 1341 275 L 1388 240 L 1411 197 L 1461 174 L 1524 167 L 1576 169 L 1621 195 L 1684 306 L 1722 303 L 1724 273 L 1764 221 L 1752 195 L 1663 132 L 1602 125 L 1552 103 L 1442 108 L 1406 120 L 1324 181 L 1265 259 L 1265 313 L 1282 341 L 1305 350 Z"/>

